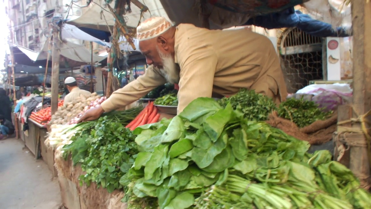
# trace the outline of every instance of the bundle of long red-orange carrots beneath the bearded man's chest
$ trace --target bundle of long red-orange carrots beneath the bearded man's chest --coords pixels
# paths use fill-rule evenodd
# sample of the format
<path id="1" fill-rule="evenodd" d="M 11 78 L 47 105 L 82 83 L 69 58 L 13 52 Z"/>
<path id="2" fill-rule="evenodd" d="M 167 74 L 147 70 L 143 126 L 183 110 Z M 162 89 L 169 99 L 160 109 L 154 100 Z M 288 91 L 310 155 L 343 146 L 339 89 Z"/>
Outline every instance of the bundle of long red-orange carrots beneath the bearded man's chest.
<path id="1" fill-rule="evenodd" d="M 139 113 L 139 115 L 134 118 L 126 128 L 133 131 L 138 126 L 145 124 L 156 123 L 160 118 L 160 113 L 158 113 L 157 107 L 154 106 L 153 102 L 148 102 L 148 105 Z"/>

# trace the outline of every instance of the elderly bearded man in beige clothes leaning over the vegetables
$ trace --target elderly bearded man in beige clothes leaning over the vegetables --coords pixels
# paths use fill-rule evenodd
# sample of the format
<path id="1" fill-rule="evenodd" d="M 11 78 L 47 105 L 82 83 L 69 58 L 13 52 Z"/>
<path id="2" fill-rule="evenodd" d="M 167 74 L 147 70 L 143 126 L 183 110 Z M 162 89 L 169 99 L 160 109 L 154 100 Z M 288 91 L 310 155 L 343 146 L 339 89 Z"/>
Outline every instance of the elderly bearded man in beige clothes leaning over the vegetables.
<path id="1" fill-rule="evenodd" d="M 287 96 L 278 55 L 263 35 L 190 24 L 173 27 L 164 17 L 153 17 L 138 26 L 137 38 L 151 66 L 81 121 L 129 105 L 168 81 L 179 84 L 178 113 L 198 97 L 230 96 L 242 88 L 272 97 L 276 104 Z"/>

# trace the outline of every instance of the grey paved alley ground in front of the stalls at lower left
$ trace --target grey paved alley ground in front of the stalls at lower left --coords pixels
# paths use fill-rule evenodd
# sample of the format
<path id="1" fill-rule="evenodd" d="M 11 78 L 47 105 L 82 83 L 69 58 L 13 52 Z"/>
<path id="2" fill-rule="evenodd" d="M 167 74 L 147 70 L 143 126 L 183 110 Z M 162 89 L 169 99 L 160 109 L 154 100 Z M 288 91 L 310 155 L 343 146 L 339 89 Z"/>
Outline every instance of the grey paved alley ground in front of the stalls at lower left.
<path id="1" fill-rule="evenodd" d="M 58 209 L 58 179 L 22 140 L 0 141 L 0 209 Z"/>

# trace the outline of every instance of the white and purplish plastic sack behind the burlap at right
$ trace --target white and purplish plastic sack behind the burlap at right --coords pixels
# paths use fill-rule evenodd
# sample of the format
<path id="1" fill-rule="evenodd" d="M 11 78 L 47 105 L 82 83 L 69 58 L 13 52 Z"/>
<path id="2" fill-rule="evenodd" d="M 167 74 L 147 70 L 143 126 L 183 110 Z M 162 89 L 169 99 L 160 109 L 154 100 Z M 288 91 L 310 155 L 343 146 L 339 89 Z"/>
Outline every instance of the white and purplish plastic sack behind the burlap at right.
<path id="1" fill-rule="evenodd" d="M 328 110 L 336 110 L 339 105 L 350 103 L 353 96 L 353 90 L 346 83 L 312 84 L 296 93 L 312 94 L 312 101 Z"/>

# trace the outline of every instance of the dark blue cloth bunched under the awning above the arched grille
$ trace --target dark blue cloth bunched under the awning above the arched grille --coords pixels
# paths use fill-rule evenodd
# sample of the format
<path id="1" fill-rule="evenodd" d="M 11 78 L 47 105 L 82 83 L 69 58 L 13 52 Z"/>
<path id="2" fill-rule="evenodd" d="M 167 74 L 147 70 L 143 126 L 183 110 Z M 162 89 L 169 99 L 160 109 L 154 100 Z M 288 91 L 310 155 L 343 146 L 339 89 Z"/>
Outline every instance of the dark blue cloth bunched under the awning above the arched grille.
<path id="1" fill-rule="evenodd" d="M 255 25 L 266 29 L 298 28 L 312 36 L 318 37 L 348 37 L 347 29 L 332 28 L 331 24 L 313 19 L 293 8 L 269 15 L 256 16 L 249 19 L 245 25 Z"/>

